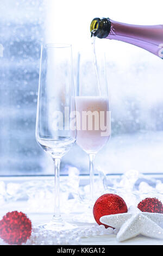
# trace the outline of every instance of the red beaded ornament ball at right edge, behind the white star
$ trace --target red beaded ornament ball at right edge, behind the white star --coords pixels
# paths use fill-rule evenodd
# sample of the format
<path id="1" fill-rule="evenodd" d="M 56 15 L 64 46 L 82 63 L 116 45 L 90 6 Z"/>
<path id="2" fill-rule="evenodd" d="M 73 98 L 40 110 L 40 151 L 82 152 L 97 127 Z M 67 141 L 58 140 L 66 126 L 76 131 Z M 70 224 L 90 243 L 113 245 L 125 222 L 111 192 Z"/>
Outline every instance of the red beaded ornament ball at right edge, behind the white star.
<path id="1" fill-rule="evenodd" d="M 137 208 L 145 212 L 156 212 L 163 214 L 163 205 L 157 198 L 145 198 L 138 205 Z"/>

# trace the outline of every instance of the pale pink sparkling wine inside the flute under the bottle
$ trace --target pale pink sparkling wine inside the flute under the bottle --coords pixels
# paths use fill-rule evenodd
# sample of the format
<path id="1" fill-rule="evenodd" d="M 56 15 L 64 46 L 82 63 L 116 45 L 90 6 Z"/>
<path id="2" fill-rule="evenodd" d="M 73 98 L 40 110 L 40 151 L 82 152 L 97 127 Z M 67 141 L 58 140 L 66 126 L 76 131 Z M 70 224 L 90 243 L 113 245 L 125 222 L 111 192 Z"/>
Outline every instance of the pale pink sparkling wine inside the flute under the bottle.
<path id="1" fill-rule="evenodd" d="M 77 144 L 86 153 L 97 153 L 111 135 L 108 99 L 103 96 L 76 96 L 76 112 L 79 114 Z"/>

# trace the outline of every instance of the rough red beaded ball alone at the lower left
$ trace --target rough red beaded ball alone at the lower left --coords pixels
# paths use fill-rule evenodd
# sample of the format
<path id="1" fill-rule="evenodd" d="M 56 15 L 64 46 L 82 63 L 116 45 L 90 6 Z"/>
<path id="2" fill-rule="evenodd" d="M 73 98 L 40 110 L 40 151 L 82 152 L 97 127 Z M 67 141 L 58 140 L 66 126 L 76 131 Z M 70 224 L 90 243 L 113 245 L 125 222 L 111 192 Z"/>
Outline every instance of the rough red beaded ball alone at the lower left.
<path id="1" fill-rule="evenodd" d="M 8 212 L 0 221 L 0 236 L 9 245 L 26 243 L 31 232 L 32 223 L 23 212 Z"/>

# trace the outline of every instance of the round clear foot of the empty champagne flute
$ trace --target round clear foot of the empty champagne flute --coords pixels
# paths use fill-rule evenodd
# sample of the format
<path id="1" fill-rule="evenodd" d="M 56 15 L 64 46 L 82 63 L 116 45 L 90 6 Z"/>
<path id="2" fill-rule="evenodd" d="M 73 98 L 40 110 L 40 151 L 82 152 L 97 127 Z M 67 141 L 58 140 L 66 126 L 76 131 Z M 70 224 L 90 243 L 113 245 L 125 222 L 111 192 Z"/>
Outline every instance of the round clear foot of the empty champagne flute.
<path id="1" fill-rule="evenodd" d="M 62 230 L 72 230 L 76 229 L 77 225 L 62 221 L 62 220 L 52 220 L 48 223 L 39 225 L 39 228 L 52 230 L 52 231 L 62 231 Z"/>

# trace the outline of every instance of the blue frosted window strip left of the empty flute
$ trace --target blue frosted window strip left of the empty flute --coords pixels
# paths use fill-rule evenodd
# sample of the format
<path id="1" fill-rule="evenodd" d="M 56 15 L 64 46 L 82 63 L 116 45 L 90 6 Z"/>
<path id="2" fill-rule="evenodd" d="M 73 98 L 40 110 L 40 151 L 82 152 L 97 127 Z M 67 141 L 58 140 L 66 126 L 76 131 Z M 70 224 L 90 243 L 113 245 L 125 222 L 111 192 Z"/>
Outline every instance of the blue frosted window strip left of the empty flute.
<path id="1" fill-rule="evenodd" d="M 0 9 L 0 175 L 37 174 L 43 155 L 35 141 L 43 2 L 6 0 Z"/>

